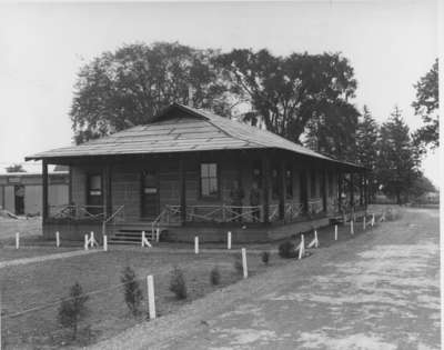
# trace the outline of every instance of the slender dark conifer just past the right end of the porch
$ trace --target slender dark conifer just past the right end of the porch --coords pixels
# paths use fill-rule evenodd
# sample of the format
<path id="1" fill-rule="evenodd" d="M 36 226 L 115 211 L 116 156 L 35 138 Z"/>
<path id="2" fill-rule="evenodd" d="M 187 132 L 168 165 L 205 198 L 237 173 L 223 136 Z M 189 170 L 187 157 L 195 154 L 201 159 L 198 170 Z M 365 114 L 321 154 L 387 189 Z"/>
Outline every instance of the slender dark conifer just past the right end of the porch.
<path id="1" fill-rule="evenodd" d="M 356 130 L 356 162 L 369 169 L 369 197 L 374 198 L 377 191 L 377 181 L 375 178 L 377 164 L 376 144 L 380 138 L 380 127 L 373 119 L 369 108 L 364 106 L 363 113 L 360 117 Z"/>

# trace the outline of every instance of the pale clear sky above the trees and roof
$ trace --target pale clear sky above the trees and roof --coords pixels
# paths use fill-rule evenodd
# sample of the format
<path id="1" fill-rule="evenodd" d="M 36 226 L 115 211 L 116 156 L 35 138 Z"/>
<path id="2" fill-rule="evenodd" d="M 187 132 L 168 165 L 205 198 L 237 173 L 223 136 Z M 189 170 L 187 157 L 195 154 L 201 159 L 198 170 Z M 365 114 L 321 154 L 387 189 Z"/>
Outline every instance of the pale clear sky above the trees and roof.
<path id="1" fill-rule="evenodd" d="M 359 87 L 352 101 L 385 121 L 397 104 L 412 130 L 413 84 L 437 57 L 435 0 L 0 4 L 0 171 L 72 142 L 69 109 L 80 68 L 123 43 L 266 48 L 274 54 L 342 52 Z M 29 170 L 40 170 L 29 162 Z M 423 161 L 438 183 L 437 152 Z"/>

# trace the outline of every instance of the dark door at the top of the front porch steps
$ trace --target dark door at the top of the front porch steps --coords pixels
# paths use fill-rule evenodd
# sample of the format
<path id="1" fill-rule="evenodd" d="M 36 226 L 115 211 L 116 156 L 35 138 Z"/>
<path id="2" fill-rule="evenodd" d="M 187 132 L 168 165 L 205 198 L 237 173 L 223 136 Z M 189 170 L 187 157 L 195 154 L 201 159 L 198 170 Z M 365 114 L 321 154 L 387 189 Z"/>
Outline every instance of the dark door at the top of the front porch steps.
<path id="1" fill-rule="evenodd" d="M 141 218 L 152 220 L 159 216 L 159 174 L 150 169 L 142 172 L 142 208 Z"/>

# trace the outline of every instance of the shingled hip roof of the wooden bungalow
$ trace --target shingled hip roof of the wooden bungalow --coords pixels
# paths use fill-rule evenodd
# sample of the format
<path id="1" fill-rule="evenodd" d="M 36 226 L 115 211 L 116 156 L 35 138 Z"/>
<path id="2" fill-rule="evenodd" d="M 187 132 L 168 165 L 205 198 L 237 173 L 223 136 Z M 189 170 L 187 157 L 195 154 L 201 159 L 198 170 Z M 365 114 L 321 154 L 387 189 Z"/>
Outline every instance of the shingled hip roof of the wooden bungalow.
<path id="1" fill-rule="evenodd" d="M 273 132 L 178 103 L 167 108 L 148 124 L 133 127 L 79 146 L 37 153 L 27 157 L 27 160 L 264 148 L 284 149 L 337 162 Z"/>

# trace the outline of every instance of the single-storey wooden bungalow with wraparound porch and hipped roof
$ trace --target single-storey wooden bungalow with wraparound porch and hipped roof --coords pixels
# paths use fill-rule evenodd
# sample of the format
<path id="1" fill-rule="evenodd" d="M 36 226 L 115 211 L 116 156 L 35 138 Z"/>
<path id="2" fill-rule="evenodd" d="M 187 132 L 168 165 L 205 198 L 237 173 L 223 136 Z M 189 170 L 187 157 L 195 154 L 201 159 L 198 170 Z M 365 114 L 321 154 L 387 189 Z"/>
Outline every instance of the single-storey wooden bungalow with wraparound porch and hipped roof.
<path id="1" fill-rule="evenodd" d="M 366 204 L 362 167 L 176 103 L 148 124 L 27 160 L 42 160 L 46 237 L 93 230 L 140 241 L 159 228 L 162 240 L 222 241 L 232 231 L 269 241 Z M 48 164 L 69 166 L 64 206 L 48 204 Z"/>

